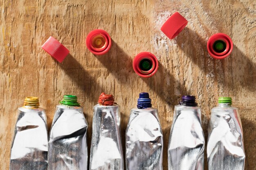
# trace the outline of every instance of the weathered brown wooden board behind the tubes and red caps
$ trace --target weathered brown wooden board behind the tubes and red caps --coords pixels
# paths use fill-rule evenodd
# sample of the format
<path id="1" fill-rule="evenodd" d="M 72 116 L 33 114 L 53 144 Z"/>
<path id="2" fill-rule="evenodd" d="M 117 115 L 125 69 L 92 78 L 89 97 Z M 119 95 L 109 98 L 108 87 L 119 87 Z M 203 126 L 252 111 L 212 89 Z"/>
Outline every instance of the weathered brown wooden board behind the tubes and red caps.
<path id="1" fill-rule="evenodd" d="M 189 23 L 169 40 L 160 27 L 175 11 Z M 94 56 L 86 48 L 92 29 L 110 34 L 113 44 L 106 55 Z M 224 60 L 207 53 L 208 38 L 218 32 L 234 43 Z M 51 35 L 70 50 L 61 64 L 41 49 Z M 232 97 L 243 124 L 245 170 L 256 170 L 255 42 L 255 0 L 0 0 L 0 169 L 9 169 L 17 108 L 25 97 L 40 98 L 50 127 L 62 96 L 77 95 L 90 146 L 92 107 L 101 92 L 113 94 L 121 106 L 123 141 L 130 109 L 140 92 L 148 92 L 164 132 L 164 170 L 173 108 L 185 94 L 195 95 L 202 106 L 206 139 L 211 108 L 218 97 Z M 148 79 L 132 69 L 133 57 L 142 51 L 159 60 Z"/>

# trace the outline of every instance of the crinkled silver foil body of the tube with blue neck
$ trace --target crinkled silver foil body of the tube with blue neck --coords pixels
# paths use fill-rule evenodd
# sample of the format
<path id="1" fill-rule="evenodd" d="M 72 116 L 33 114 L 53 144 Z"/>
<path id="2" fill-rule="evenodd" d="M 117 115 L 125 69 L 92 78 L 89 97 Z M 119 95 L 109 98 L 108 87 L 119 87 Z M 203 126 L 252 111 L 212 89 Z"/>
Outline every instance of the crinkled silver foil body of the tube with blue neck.
<path id="1" fill-rule="evenodd" d="M 126 129 L 126 170 L 162 170 L 162 155 L 157 109 L 132 109 Z"/>

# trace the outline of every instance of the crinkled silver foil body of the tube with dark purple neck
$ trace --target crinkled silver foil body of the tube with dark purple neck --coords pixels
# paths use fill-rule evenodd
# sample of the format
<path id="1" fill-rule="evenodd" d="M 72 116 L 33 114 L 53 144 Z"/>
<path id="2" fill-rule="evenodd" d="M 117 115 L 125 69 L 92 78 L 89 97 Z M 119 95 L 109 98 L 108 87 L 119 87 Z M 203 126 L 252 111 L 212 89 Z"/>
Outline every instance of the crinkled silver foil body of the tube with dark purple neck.
<path id="1" fill-rule="evenodd" d="M 204 169 L 200 107 L 176 105 L 168 146 L 168 170 Z"/>

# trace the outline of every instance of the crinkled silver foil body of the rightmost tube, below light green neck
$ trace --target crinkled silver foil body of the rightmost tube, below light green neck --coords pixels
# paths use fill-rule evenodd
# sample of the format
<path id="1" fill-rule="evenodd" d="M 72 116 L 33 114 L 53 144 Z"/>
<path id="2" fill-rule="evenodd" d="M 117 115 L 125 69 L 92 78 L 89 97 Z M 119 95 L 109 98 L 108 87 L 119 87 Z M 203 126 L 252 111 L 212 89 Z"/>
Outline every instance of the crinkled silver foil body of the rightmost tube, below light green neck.
<path id="1" fill-rule="evenodd" d="M 208 134 L 208 169 L 244 170 L 245 150 L 238 109 L 231 106 L 213 108 Z"/>

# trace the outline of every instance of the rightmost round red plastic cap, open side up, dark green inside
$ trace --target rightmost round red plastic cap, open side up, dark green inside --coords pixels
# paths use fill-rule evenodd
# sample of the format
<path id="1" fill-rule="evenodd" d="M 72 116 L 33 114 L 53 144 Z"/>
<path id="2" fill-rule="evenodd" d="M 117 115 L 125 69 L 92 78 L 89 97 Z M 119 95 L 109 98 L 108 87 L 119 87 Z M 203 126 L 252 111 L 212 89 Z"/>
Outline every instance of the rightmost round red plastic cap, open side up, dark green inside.
<path id="1" fill-rule="evenodd" d="M 214 44 L 218 41 L 224 43 L 225 45 L 225 49 L 223 49 L 222 51 L 216 51 L 214 49 Z M 207 50 L 211 57 L 215 59 L 224 59 L 233 50 L 233 42 L 228 35 L 224 33 L 216 33 L 209 38 L 207 42 Z"/>

